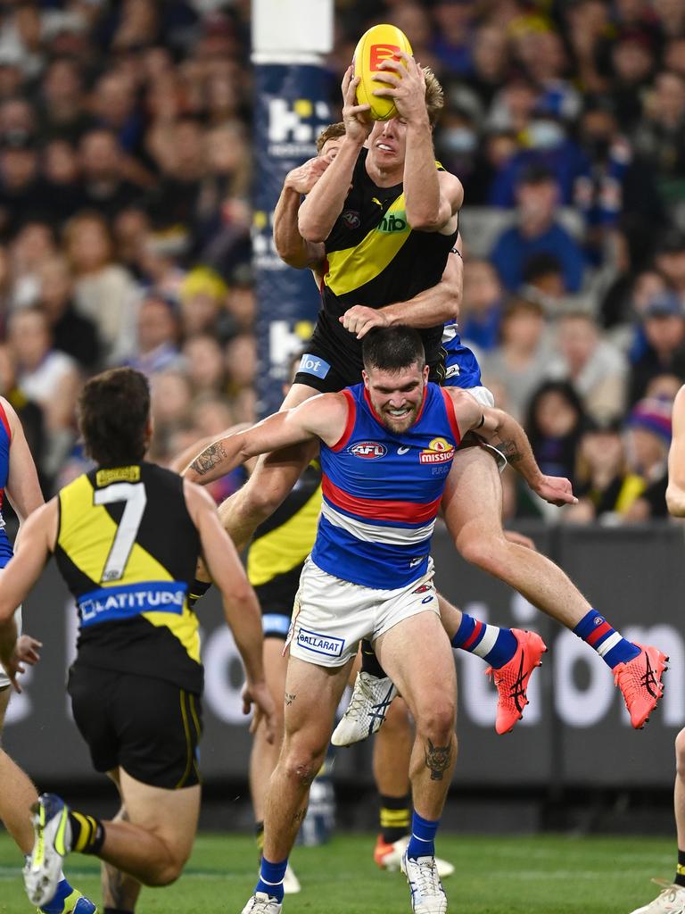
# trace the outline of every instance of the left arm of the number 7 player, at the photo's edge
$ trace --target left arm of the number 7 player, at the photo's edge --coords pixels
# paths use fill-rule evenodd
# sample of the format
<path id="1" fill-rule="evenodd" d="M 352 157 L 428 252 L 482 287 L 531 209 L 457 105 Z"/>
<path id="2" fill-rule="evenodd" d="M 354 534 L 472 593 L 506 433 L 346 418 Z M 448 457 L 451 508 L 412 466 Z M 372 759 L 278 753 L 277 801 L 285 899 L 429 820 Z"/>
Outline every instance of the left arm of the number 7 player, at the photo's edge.
<path id="1" fill-rule="evenodd" d="M 55 546 L 58 527 L 57 499 L 39 507 L 26 520 L 14 558 L 3 571 L 0 588 L 0 664 L 15 686 L 17 673 L 22 672 L 15 653 L 15 610 L 26 599 L 36 583 Z"/>

